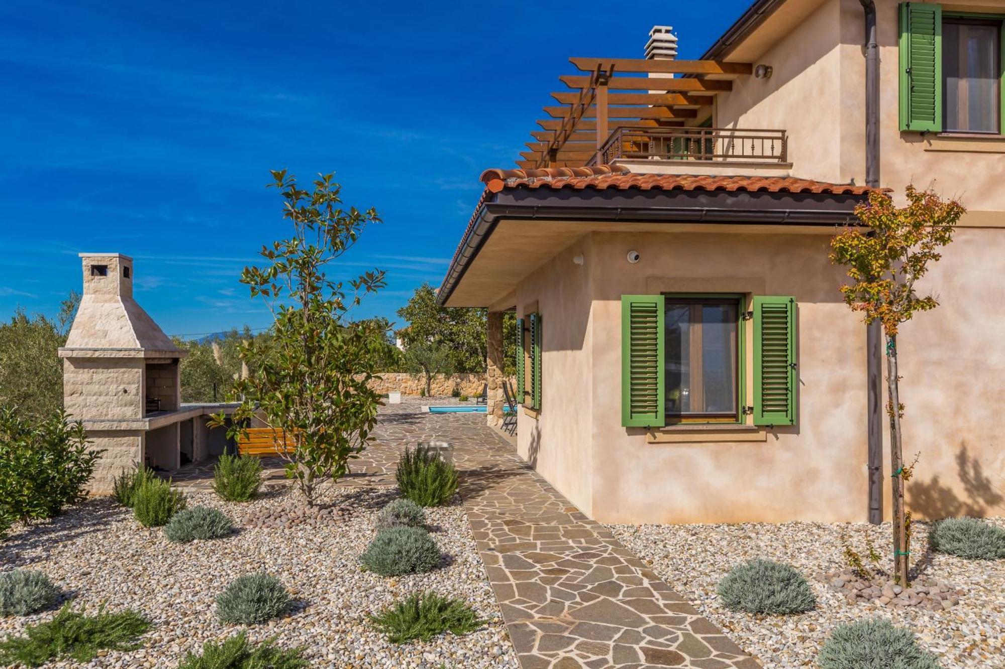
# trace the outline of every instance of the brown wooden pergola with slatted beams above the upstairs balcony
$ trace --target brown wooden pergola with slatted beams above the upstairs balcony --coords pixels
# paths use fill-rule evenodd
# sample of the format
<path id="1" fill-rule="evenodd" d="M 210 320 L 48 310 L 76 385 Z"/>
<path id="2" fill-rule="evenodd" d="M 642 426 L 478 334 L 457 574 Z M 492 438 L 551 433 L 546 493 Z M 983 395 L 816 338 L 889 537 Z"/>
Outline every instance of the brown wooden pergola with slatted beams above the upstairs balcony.
<path id="1" fill-rule="evenodd" d="M 619 130 L 660 132 L 696 120 L 713 97 L 733 88 L 733 79 L 749 75 L 747 62 L 632 58 L 570 58 L 580 74 L 559 77 L 572 90 L 553 92 L 557 106 L 538 121 L 529 151 L 517 165 L 524 169 L 582 167 L 598 159 L 612 133 Z M 625 76 L 622 76 L 625 74 Z M 668 76 L 686 74 L 684 77 Z M 702 115 L 703 116 L 703 115 Z"/>

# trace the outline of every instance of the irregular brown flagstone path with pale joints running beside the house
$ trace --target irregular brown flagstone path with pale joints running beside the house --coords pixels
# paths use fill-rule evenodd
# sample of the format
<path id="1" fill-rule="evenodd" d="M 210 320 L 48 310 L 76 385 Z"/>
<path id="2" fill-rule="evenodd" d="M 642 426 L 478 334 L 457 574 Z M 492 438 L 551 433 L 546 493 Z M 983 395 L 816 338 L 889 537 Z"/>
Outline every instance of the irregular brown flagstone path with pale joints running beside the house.
<path id="1" fill-rule="evenodd" d="M 428 404 L 428 401 L 421 401 Z M 535 472 L 480 415 L 383 407 L 340 485 L 393 485 L 405 446 L 454 446 L 460 494 L 523 669 L 757 669 L 761 664 Z M 212 466 L 172 472 L 203 487 Z"/>

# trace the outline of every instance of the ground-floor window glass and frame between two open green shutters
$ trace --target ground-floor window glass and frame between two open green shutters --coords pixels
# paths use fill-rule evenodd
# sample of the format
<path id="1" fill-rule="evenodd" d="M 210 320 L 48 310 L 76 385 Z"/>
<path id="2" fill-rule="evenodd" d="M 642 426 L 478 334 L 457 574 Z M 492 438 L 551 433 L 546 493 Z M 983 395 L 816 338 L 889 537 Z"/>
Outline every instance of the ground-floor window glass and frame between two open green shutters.
<path id="1" fill-rule="evenodd" d="M 737 411 L 737 304 L 668 299 L 665 312 L 666 413 Z"/>

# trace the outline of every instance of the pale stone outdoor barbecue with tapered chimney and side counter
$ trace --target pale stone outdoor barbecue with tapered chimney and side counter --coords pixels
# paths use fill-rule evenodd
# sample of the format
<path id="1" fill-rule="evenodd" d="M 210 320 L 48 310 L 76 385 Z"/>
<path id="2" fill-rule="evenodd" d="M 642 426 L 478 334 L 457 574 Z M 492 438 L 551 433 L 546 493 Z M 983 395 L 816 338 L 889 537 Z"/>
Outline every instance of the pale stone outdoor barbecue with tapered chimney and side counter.
<path id="1" fill-rule="evenodd" d="M 177 469 L 219 454 L 224 430 L 208 415 L 228 405 L 183 405 L 179 361 L 185 357 L 133 298 L 133 258 L 81 253 L 83 296 L 63 360 L 63 404 L 105 453 L 91 489 L 108 492 L 123 470 Z"/>

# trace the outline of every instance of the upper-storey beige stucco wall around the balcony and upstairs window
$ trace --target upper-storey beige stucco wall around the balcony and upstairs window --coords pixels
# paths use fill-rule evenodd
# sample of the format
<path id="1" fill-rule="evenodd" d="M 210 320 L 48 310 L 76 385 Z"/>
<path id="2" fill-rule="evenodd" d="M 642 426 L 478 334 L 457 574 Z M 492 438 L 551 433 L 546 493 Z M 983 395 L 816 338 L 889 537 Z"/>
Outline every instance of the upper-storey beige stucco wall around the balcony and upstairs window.
<path id="1" fill-rule="evenodd" d="M 945 10 L 1005 12 L 1003 0 L 946 4 Z M 1005 140 L 900 133 L 896 0 L 878 0 L 880 181 L 897 194 L 932 185 L 971 210 L 964 224 L 1005 225 Z M 717 96 L 720 128 L 786 130 L 791 174 L 865 183 L 864 19 L 858 0 L 825 0 L 766 49 L 737 53 L 773 67 L 768 79 L 739 77 Z M 742 171 L 741 171 L 742 172 Z M 997 223 L 996 223 L 997 221 Z"/>

